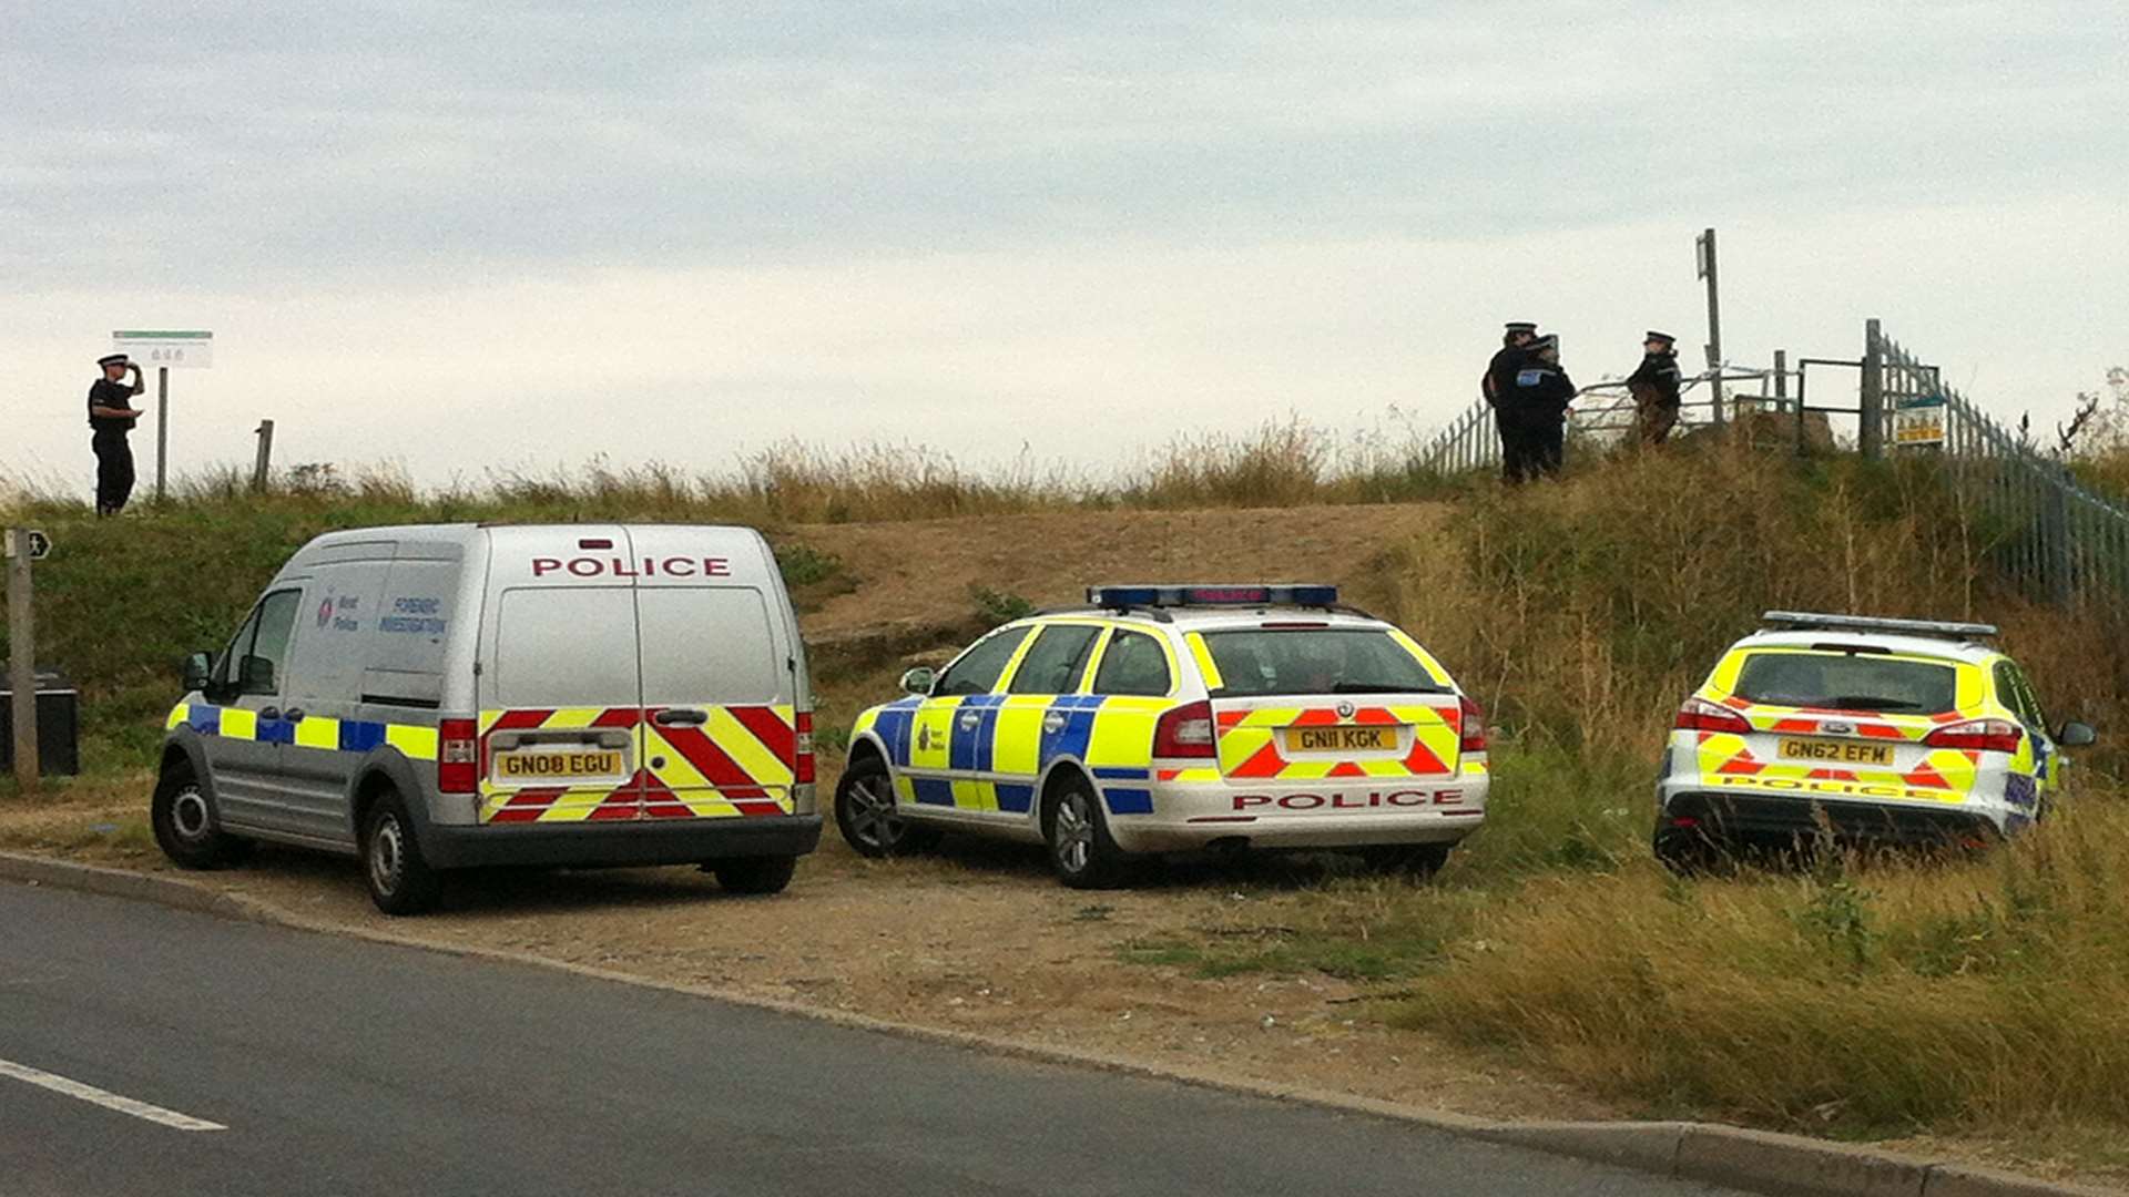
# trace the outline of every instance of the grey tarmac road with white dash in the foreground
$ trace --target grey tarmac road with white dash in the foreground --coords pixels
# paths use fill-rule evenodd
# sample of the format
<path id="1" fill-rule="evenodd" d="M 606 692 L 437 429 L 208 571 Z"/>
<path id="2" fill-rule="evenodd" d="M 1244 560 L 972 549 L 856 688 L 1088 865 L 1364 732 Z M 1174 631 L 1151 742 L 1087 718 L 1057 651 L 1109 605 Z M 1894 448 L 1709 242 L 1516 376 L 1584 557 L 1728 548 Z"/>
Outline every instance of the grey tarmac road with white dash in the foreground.
<path id="1" fill-rule="evenodd" d="M 537 967 L 0 884 L 0 1193 L 1720 1191 Z"/>

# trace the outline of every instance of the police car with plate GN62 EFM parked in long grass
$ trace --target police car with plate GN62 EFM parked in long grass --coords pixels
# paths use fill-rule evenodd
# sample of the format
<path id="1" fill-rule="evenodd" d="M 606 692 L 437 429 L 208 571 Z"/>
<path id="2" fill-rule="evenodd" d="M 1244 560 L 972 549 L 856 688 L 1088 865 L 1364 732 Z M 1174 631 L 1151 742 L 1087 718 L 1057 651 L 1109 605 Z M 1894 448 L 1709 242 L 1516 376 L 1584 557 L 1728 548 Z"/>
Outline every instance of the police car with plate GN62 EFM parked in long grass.
<path id="1" fill-rule="evenodd" d="M 1731 848 L 1984 846 L 2037 820 L 2063 748 L 1988 624 L 1767 611 L 1678 709 L 1656 782 L 1656 856 Z"/>

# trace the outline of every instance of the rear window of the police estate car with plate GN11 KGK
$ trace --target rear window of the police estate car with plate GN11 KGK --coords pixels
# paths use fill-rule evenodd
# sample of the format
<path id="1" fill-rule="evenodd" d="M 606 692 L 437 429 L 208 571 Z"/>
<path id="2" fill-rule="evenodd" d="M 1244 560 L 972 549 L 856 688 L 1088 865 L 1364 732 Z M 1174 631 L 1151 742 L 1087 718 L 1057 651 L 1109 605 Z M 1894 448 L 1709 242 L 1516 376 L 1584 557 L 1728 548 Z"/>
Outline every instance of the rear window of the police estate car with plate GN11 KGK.
<path id="1" fill-rule="evenodd" d="M 1237 628 L 1205 633 L 1220 669 L 1216 699 L 1256 694 L 1443 694 L 1405 645 L 1375 628 Z"/>

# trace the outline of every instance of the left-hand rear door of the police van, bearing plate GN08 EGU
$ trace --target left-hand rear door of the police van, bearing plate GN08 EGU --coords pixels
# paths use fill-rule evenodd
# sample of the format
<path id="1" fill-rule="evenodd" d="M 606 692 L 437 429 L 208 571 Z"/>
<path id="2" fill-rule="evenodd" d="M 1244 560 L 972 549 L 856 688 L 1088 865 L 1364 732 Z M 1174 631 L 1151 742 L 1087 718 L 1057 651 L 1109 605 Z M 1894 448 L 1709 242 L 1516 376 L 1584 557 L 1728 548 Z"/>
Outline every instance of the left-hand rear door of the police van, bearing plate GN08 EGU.
<path id="1" fill-rule="evenodd" d="M 641 818 L 634 573 L 622 526 L 490 530 L 483 824 Z"/>

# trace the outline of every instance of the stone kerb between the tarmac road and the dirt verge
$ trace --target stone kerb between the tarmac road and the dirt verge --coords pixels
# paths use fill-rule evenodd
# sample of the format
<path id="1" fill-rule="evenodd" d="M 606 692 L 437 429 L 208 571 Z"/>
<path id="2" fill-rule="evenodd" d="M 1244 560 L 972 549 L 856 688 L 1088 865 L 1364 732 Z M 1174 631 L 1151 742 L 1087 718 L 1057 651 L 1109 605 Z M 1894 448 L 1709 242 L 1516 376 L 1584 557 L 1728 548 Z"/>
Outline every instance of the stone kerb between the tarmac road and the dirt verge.
<path id="1" fill-rule="evenodd" d="M 55 888 L 153 901 L 179 909 L 217 914 L 247 922 L 273 922 L 296 931 L 368 939 L 373 944 L 392 944 L 396 948 L 422 948 L 453 956 L 558 969 L 603 982 L 683 993 L 690 997 L 705 997 L 732 1005 L 788 1014 L 794 1018 L 849 1027 L 854 1031 L 922 1039 L 1035 1063 L 1096 1067 L 1122 1076 L 1182 1082 L 1196 1088 L 1237 1093 L 1245 1097 L 1299 1101 L 1326 1110 L 1414 1122 L 1435 1131 L 1467 1135 L 1503 1146 L 1610 1163 L 1616 1167 L 1673 1176 L 1680 1180 L 1724 1184 L 1729 1188 L 1765 1193 L 1769 1197 L 2125 1197 L 2123 1191 L 2112 1188 L 2052 1184 L 2003 1171 L 1846 1144 L 1829 1144 L 1822 1139 L 1808 1139 L 1803 1135 L 1778 1135 L 1771 1131 L 1724 1127 L 1716 1122 L 1503 1122 L 1495 1118 L 1473 1118 L 1450 1110 L 1431 1110 L 1424 1105 L 1356 1097 L 1350 1093 L 1271 1084 L 1192 1067 L 1152 1065 L 1109 1052 L 1005 1039 L 947 1027 L 890 1022 L 869 1014 L 805 1005 L 754 993 L 686 982 L 662 982 L 615 969 L 600 969 L 596 965 L 556 961 L 534 952 L 426 939 L 413 933 L 385 931 L 377 927 L 349 927 L 302 916 L 249 895 L 224 892 L 200 882 L 106 869 L 100 865 L 77 865 L 70 860 L 49 860 L 19 852 L 0 852 L 0 880 L 38 882 Z"/>

